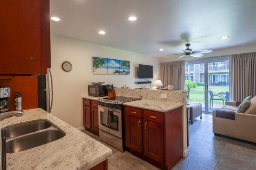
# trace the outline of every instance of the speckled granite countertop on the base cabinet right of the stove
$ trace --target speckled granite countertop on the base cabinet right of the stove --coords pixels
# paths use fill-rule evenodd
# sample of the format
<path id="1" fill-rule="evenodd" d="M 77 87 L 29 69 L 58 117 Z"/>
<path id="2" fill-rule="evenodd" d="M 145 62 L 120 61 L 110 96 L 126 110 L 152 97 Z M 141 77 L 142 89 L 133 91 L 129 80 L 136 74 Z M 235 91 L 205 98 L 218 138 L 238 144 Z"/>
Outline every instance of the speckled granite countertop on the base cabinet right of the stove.
<path id="1" fill-rule="evenodd" d="M 141 99 L 137 101 L 130 101 L 123 103 L 125 106 L 137 107 L 141 109 L 154 110 L 157 112 L 169 112 L 170 110 L 182 107 L 183 104 L 171 103 L 166 101 L 153 101 L 147 99 Z"/>

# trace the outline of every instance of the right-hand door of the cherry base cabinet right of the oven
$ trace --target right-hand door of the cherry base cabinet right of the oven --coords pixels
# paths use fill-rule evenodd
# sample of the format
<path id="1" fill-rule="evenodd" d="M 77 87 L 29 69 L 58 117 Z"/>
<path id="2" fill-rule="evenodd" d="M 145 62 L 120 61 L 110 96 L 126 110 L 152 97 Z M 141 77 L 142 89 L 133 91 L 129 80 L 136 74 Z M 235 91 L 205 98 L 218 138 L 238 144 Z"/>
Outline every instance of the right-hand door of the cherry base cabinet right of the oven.
<path id="1" fill-rule="evenodd" d="M 143 153 L 148 158 L 163 163 L 163 125 L 143 121 Z"/>

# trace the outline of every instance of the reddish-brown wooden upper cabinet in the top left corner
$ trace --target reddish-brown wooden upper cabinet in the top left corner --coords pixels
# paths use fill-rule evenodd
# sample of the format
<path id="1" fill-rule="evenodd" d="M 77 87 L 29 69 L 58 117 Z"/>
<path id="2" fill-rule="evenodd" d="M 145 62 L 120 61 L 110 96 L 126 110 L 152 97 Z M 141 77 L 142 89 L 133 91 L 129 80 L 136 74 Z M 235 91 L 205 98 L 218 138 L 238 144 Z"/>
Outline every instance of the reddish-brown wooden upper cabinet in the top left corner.
<path id="1" fill-rule="evenodd" d="M 0 6 L 0 75 L 47 74 L 49 0 L 1 0 Z"/>

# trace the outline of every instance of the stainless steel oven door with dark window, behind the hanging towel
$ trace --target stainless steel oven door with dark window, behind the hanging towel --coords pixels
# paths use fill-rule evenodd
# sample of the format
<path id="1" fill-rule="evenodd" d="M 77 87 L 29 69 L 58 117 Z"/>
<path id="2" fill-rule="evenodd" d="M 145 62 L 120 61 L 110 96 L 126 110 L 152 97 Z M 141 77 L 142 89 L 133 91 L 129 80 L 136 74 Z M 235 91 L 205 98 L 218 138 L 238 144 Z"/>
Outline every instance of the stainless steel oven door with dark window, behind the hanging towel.
<path id="1" fill-rule="evenodd" d="M 108 123 L 104 123 L 104 108 L 108 108 Z M 122 139 L 122 111 L 105 106 L 98 106 L 99 129 Z"/>

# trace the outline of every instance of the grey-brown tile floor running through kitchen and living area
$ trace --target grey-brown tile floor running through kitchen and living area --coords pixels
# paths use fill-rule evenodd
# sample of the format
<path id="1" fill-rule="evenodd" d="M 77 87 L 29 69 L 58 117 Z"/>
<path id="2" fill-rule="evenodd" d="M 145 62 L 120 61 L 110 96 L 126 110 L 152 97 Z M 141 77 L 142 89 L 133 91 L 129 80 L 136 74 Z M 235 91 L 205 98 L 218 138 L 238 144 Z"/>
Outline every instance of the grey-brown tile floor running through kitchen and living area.
<path id="1" fill-rule="evenodd" d="M 203 114 L 189 124 L 189 155 L 182 158 L 173 170 L 256 170 L 256 144 L 212 133 L 212 115 Z M 99 137 L 83 130 L 99 141 Z M 102 142 L 102 141 L 100 141 Z M 102 142 L 105 144 L 104 142 Z M 113 151 L 108 170 L 159 170 L 125 151 Z"/>

